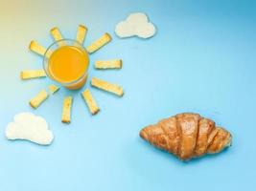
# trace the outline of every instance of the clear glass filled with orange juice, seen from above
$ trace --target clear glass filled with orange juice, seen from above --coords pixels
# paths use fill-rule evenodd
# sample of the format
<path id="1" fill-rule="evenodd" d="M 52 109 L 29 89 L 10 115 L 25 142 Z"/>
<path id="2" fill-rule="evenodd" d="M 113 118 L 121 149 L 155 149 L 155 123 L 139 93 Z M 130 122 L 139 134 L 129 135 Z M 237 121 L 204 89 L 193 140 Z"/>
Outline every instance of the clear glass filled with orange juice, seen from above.
<path id="1" fill-rule="evenodd" d="M 51 79 L 67 89 L 78 90 L 86 82 L 89 56 L 79 42 L 62 39 L 47 49 L 43 66 Z"/>

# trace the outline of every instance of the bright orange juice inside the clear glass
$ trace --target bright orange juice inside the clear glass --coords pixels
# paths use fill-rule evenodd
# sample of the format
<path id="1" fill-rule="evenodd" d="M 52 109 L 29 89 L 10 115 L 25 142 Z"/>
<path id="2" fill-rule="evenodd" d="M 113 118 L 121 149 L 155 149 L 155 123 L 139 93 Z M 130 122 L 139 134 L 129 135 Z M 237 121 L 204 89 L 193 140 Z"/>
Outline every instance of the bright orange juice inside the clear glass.
<path id="1" fill-rule="evenodd" d="M 79 89 L 86 81 L 89 66 L 88 54 L 79 47 L 66 45 L 56 49 L 49 57 L 48 71 L 53 79 Z"/>

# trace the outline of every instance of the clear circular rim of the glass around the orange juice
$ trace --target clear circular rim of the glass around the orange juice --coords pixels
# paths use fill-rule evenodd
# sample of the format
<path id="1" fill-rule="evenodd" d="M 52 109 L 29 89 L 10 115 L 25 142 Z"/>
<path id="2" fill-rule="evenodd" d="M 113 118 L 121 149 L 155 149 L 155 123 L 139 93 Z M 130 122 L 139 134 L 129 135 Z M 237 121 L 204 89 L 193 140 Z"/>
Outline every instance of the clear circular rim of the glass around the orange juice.
<path id="1" fill-rule="evenodd" d="M 82 51 L 84 51 L 84 53 L 86 53 L 87 57 L 88 57 L 88 63 L 90 63 L 90 58 L 89 58 L 89 53 L 87 52 L 87 50 L 83 47 L 83 45 L 77 41 L 77 40 L 74 40 L 74 39 L 68 39 L 68 38 L 63 38 L 63 39 L 60 39 L 60 40 L 56 40 L 55 42 L 53 42 L 45 51 L 44 55 L 43 55 L 43 70 L 44 72 L 47 74 L 47 76 L 52 79 L 53 81 L 57 82 L 58 84 L 62 85 L 62 86 L 70 86 L 70 85 L 73 85 L 74 83 L 77 83 L 79 81 L 81 81 L 81 79 L 88 74 L 88 68 L 85 70 L 84 74 L 82 74 L 78 79 L 75 79 L 75 80 L 72 80 L 72 81 L 69 81 L 69 82 L 60 82 L 58 81 L 57 79 L 53 78 L 51 76 L 51 74 L 48 72 L 48 69 L 46 68 L 46 66 L 48 65 L 48 60 L 49 60 L 49 57 L 47 57 L 47 53 L 49 53 L 49 51 L 51 50 L 51 48 L 53 48 L 54 46 L 58 46 L 58 43 L 59 42 L 70 42 L 71 44 L 76 44 L 79 46 L 79 48 L 81 48 Z M 64 45 L 65 46 L 65 45 Z M 72 46 L 72 45 L 67 45 L 67 46 Z M 58 46 L 59 47 L 63 47 L 63 46 Z M 58 49 L 57 48 L 57 49 Z M 57 50 L 56 49 L 56 50 Z"/>

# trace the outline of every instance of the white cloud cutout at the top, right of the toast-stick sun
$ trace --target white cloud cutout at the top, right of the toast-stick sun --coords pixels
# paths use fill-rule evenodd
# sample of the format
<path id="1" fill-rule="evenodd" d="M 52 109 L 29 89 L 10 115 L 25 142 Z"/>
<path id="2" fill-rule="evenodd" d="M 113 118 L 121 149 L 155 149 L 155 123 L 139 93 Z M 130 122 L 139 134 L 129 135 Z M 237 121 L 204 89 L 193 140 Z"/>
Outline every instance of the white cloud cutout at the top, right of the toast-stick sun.
<path id="1" fill-rule="evenodd" d="M 145 13 L 135 12 L 129 14 L 127 20 L 118 23 L 115 32 L 121 38 L 130 36 L 150 38 L 156 32 L 156 29 Z"/>

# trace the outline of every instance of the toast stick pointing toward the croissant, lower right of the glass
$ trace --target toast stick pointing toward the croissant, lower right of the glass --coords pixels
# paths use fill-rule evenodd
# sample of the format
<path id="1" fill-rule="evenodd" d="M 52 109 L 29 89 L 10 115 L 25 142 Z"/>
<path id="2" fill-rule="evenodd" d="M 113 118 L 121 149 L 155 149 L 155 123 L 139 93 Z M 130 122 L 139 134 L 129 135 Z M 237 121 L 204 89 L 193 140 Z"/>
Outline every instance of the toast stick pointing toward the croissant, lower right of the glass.
<path id="1" fill-rule="evenodd" d="M 106 92 L 115 94 L 117 96 L 123 96 L 124 95 L 122 87 L 120 87 L 119 85 L 112 84 L 112 83 L 109 83 L 107 81 L 104 81 L 102 79 L 92 77 L 91 85 L 96 87 L 96 88 L 105 90 Z"/>

